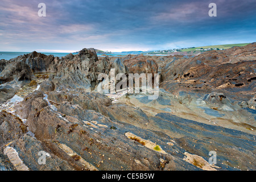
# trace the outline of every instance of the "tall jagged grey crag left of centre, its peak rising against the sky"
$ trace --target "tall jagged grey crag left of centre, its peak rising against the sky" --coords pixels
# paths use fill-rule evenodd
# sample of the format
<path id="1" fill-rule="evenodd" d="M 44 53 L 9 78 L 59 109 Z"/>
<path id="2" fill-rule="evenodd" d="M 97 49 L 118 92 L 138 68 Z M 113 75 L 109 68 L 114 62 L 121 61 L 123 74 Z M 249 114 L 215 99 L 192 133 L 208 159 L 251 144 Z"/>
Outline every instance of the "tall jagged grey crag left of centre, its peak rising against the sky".
<path id="1" fill-rule="evenodd" d="M 94 49 L 82 49 L 77 55 L 67 55 L 60 60 L 56 75 L 51 78 L 56 86 L 66 85 L 69 88 L 82 88 L 93 90 L 99 82 L 100 73 L 110 72 L 115 68 L 115 73 L 128 73 L 128 69 L 120 60 L 110 64 L 109 57 L 98 60 Z"/>

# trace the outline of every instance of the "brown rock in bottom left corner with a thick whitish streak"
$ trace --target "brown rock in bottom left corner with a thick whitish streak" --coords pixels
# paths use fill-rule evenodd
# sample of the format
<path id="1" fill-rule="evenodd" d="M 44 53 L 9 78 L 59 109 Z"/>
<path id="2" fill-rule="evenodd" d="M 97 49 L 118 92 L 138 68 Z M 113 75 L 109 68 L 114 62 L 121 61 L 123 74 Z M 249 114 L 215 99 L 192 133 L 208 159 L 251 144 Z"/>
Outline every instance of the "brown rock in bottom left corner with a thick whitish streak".
<path id="1" fill-rule="evenodd" d="M 27 134 L 27 126 L 19 117 L 0 112 L 0 169 L 2 170 L 74 170 L 47 148 L 45 144 Z M 39 163 L 42 152 L 48 154 L 46 165 Z M 59 154 L 61 155 L 61 154 Z"/>

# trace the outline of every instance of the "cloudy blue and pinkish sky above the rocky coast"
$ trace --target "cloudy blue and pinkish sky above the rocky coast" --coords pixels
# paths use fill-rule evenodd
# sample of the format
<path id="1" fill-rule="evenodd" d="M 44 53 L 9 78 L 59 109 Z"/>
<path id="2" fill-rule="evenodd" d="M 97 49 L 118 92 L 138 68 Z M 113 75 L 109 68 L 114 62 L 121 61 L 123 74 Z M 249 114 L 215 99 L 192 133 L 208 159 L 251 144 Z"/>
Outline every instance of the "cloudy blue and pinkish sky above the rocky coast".
<path id="1" fill-rule="evenodd" d="M 39 3 L 46 16 L 39 16 Z M 217 16 L 209 16 L 216 3 Z M 1 0 L 0 51 L 152 51 L 256 42 L 256 0 Z"/>

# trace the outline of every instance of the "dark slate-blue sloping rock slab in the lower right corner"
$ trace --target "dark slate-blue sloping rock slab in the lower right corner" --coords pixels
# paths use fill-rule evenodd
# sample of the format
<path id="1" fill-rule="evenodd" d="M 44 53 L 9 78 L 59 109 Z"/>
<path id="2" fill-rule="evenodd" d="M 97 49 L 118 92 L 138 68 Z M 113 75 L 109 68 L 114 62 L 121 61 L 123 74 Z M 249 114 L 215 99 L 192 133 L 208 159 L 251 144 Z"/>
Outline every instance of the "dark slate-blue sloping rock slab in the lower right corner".
<path id="1" fill-rule="evenodd" d="M 218 166 L 223 170 L 230 170 L 230 167 L 254 169 L 255 152 L 252 150 L 255 150 L 255 135 L 181 119 L 166 113 L 159 113 L 152 120 L 155 126 L 176 135 L 174 140 L 189 153 L 207 158 L 209 151 L 216 151 L 217 159 L 222 161 Z M 251 162 L 245 163 L 246 160 Z"/>

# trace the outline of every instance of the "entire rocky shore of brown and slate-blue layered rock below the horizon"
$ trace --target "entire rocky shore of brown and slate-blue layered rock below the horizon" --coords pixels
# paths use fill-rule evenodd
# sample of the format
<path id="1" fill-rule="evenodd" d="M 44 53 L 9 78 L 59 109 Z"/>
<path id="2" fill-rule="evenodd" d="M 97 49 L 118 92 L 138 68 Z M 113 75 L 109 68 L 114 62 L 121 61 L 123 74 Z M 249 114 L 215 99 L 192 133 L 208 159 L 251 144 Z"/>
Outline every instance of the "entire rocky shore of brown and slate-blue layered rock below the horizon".
<path id="1" fill-rule="evenodd" d="M 158 73 L 158 98 L 98 93 L 110 69 Z M 31 52 L 0 60 L 0 84 L 0 170 L 256 169 L 256 43 L 198 56 Z"/>

